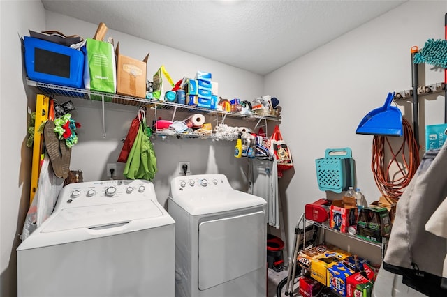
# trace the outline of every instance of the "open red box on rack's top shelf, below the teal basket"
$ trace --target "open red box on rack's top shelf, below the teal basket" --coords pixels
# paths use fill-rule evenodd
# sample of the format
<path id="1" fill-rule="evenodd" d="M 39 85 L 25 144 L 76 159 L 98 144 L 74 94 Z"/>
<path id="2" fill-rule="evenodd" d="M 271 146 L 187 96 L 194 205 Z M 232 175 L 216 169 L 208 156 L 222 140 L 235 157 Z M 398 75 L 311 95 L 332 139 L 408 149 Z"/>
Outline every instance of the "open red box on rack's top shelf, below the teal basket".
<path id="1" fill-rule="evenodd" d="M 357 205 L 353 197 L 334 200 L 330 206 L 330 227 L 346 233 L 357 222 Z"/>

